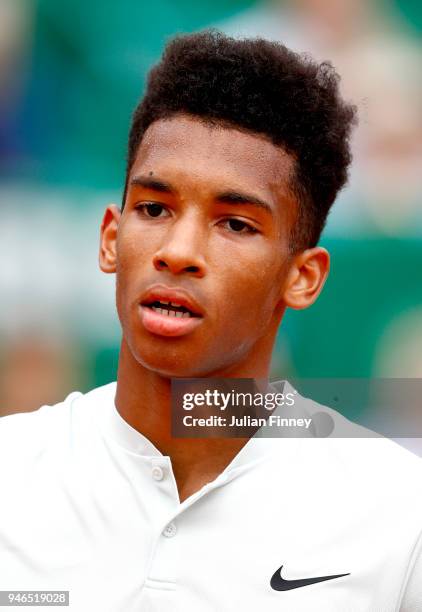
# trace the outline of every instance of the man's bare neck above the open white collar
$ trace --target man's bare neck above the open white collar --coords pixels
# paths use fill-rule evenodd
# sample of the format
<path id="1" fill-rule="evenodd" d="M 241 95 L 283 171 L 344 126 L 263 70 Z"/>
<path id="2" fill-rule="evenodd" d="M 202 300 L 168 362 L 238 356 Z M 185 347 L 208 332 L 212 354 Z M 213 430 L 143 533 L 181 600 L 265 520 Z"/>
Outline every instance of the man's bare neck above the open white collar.
<path id="1" fill-rule="evenodd" d="M 249 359 L 213 375 L 266 379 L 270 355 L 263 360 L 261 353 L 256 364 Z M 120 349 L 115 402 L 122 418 L 171 458 L 181 501 L 214 480 L 248 442 L 248 438 L 172 438 L 171 379 L 136 361 L 125 339 Z"/>

